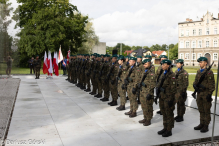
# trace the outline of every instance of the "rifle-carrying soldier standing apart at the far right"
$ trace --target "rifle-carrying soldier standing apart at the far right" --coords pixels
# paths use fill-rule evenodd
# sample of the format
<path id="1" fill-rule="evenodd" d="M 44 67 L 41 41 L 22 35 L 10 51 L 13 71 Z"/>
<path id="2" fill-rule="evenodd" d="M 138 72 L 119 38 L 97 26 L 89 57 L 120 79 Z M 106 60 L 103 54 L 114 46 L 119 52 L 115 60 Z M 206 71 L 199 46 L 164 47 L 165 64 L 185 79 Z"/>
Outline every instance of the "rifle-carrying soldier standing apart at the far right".
<path id="1" fill-rule="evenodd" d="M 198 91 L 196 102 L 200 113 L 200 124 L 194 127 L 194 129 L 205 133 L 208 131 L 208 125 L 211 122 L 211 96 L 215 90 L 215 80 L 213 71 L 207 70 L 208 59 L 200 57 L 198 62 L 201 69 L 197 71 L 193 87 Z M 204 80 L 202 80 L 201 85 L 198 85 L 203 74 L 205 74 Z"/>

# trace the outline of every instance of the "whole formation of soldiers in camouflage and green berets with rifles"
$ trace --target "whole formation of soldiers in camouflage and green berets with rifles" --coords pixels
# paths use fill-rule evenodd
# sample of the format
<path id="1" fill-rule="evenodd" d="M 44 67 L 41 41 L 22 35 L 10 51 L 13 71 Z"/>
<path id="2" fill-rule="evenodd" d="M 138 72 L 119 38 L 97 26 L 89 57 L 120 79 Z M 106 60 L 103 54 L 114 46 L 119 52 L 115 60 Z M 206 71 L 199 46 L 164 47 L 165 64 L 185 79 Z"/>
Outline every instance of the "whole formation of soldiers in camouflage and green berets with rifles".
<path id="1" fill-rule="evenodd" d="M 101 98 L 102 102 L 109 101 L 111 94 L 112 101 L 108 103 L 110 106 L 117 106 L 118 96 L 120 96 L 120 105 L 116 108 L 118 111 L 125 110 L 127 94 L 130 100 L 130 111 L 125 115 L 130 118 L 137 116 L 139 99 L 143 111 L 143 119 L 139 123 L 144 126 L 151 125 L 153 103 L 157 104 L 159 99 L 160 111 L 158 113 L 163 115 L 163 129 L 158 131 L 158 134 L 169 137 L 172 135 L 174 121 L 184 121 L 189 74 L 183 68 L 184 60 L 176 61 L 178 69 L 174 73 L 172 62 L 167 59 L 167 56 L 161 55 L 160 59 L 161 64 L 155 72 L 150 55 L 144 56 L 143 60 L 142 56 L 113 55 L 110 57 L 107 54 L 96 53 L 91 56 L 88 54 L 72 55 L 67 66 L 68 78 L 66 80 L 86 92 L 91 91 L 92 84 L 90 94 Z M 201 57 L 198 62 L 201 69 L 197 71 L 193 87 L 197 92 L 200 124 L 194 129 L 207 132 L 211 121 L 211 95 L 215 89 L 215 81 L 213 72 L 207 68 L 207 58 Z M 176 117 L 174 117 L 175 105 L 177 106 Z"/>

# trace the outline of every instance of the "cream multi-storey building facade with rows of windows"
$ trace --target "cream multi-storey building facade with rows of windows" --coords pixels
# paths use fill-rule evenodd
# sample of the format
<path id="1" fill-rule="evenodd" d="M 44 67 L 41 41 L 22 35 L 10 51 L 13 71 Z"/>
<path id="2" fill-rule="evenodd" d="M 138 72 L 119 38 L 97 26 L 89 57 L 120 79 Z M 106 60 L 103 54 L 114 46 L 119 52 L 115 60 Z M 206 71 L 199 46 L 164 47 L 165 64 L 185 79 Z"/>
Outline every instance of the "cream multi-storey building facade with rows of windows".
<path id="1" fill-rule="evenodd" d="M 214 61 L 214 66 L 218 65 L 219 14 L 214 18 L 207 12 L 199 21 L 187 18 L 178 23 L 178 29 L 178 58 L 184 59 L 186 66 L 198 66 L 201 56 L 207 57 L 209 64 Z"/>

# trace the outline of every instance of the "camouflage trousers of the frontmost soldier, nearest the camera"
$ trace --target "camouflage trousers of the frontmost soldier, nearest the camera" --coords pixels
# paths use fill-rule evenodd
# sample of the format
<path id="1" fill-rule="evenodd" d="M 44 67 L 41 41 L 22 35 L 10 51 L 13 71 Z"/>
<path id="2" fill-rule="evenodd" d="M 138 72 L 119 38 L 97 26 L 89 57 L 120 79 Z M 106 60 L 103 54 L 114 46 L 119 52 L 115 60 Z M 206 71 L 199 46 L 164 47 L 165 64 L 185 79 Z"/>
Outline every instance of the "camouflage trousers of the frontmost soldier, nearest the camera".
<path id="1" fill-rule="evenodd" d="M 173 101 L 173 104 L 169 106 L 169 101 Z M 173 97 L 165 97 L 159 99 L 160 111 L 163 114 L 163 126 L 167 130 L 171 130 L 174 128 L 174 109 L 175 109 L 175 98 Z"/>

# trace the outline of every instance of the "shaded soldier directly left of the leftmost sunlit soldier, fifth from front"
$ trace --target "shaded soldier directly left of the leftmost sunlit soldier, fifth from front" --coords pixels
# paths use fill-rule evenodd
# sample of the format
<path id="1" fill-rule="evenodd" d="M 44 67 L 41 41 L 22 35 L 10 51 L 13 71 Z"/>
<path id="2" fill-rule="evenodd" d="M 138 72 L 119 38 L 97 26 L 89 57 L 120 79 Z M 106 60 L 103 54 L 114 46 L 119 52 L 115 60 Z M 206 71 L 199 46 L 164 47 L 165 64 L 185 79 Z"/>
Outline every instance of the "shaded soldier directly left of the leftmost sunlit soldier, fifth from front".
<path id="1" fill-rule="evenodd" d="M 117 60 L 117 55 L 112 56 L 112 62 L 109 64 L 109 72 L 107 76 L 109 76 L 109 87 L 110 87 L 110 92 L 112 96 L 112 101 L 109 102 L 108 104 L 110 106 L 116 106 L 117 105 L 117 99 L 118 99 L 118 90 L 117 90 L 117 85 L 116 85 L 116 76 L 118 73 L 119 69 L 119 64 L 116 63 Z"/>

